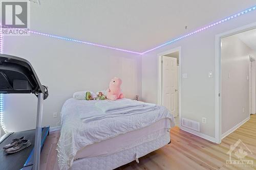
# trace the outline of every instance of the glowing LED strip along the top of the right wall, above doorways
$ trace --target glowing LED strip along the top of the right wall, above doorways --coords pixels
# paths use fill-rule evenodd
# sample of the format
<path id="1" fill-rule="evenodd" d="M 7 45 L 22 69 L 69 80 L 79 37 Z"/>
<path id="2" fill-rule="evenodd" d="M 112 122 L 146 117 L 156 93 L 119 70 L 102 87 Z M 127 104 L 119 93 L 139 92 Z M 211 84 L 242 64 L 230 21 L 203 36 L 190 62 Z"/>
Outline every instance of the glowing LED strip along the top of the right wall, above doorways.
<path id="1" fill-rule="evenodd" d="M 145 53 L 148 53 L 148 52 L 152 52 L 152 51 L 154 51 L 154 50 L 156 50 L 156 49 L 158 49 L 158 48 L 161 48 L 161 47 L 163 47 L 163 46 L 165 46 L 165 45 L 169 45 L 169 44 L 171 44 L 171 43 L 174 43 L 174 42 L 176 42 L 176 41 L 178 41 L 178 40 L 181 40 L 181 39 L 183 39 L 183 38 L 185 38 L 185 37 L 188 37 L 188 36 L 190 36 L 190 35 L 194 35 L 194 34 L 196 34 L 196 33 L 199 33 L 199 32 L 201 32 L 201 31 L 204 31 L 204 30 L 209 29 L 209 28 L 211 28 L 211 27 L 217 26 L 217 25 L 219 25 L 220 23 L 223 23 L 223 22 L 228 21 L 228 20 L 230 20 L 230 19 L 236 18 L 236 17 L 238 17 L 238 16 L 240 16 L 240 15 L 243 15 L 243 14 L 248 13 L 248 12 L 250 12 L 250 11 L 253 11 L 253 10 L 255 10 L 255 9 L 256 9 L 256 6 L 254 6 L 254 7 L 252 7 L 252 8 L 249 8 L 249 9 L 247 9 L 247 10 L 245 10 L 245 11 L 242 11 L 242 12 L 240 12 L 240 13 L 234 14 L 234 15 L 232 15 L 232 16 L 229 16 L 229 17 L 227 17 L 227 18 L 225 18 L 225 19 L 219 20 L 219 21 L 217 21 L 217 22 L 215 22 L 215 23 L 211 23 L 210 25 L 205 26 L 205 27 L 203 27 L 203 28 L 201 28 L 201 29 L 199 29 L 199 30 L 196 30 L 196 31 L 194 31 L 194 32 L 190 32 L 190 33 L 185 34 L 185 35 L 183 35 L 183 36 L 181 36 L 181 37 L 178 37 L 178 38 L 175 38 L 175 39 L 173 39 L 173 40 L 171 40 L 171 41 L 165 42 L 164 44 L 158 45 L 158 46 L 156 46 L 156 47 L 154 47 L 154 48 L 152 48 L 152 49 L 150 49 L 150 50 L 147 50 L 147 51 L 143 52 L 142 55 L 145 54 Z"/>

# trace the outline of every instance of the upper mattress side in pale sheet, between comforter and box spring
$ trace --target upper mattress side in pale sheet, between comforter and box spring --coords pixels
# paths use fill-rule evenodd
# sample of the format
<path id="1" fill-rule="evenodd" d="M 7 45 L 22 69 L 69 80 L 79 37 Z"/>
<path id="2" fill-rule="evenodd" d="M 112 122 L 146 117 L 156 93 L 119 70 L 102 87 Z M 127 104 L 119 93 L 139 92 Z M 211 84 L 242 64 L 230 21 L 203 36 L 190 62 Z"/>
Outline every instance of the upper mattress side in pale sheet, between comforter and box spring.
<path id="1" fill-rule="evenodd" d="M 164 135 L 169 129 L 163 127 L 170 127 L 168 118 L 163 118 L 145 128 L 88 145 L 76 153 L 75 159 L 111 155 L 136 147 Z"/>

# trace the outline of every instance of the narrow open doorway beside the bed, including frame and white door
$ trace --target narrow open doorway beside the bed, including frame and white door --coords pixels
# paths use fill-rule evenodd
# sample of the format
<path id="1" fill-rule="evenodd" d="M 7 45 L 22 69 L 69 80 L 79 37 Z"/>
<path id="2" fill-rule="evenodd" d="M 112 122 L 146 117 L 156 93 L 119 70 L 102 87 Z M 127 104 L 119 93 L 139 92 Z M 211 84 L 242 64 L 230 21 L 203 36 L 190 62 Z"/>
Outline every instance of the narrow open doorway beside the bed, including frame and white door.
<path id="1" fill-rule="evenodd" d="M 158 104 L 165 106 L 180 125 L 180 47 L 159 54 Z"/>

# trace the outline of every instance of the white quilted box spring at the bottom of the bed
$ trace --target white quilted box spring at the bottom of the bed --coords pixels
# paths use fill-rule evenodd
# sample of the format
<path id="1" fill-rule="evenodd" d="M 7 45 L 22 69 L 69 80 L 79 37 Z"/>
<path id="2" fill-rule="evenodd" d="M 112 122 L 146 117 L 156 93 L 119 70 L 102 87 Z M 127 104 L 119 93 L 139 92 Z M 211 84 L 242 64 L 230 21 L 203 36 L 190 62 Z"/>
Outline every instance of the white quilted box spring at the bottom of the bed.
<path id="1" fill-rule="evenodd" d="M 116 152 L 108 156 L 97 156 L 92 158 L 82 158 L 75 160 L 70 170 L 110 170 L 127 164 L 140 158 L 148 153 L 151 153 L 159 148 L 162 148 L 170 141 L 169 132 L 156 138 L 155 140 L 142 143 L 124 151 Z M 139 159 L 138 159 L 139 160 Z"/>

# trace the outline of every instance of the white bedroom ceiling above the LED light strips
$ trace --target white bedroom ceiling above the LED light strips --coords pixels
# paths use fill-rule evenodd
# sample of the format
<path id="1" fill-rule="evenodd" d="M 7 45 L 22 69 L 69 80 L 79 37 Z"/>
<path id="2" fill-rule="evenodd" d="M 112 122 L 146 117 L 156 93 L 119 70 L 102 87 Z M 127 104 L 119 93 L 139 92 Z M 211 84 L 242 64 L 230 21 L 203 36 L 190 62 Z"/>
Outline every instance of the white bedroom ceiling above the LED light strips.
<path id="1" fill-rule="evenodd" d="M 31 29 L 143 52 L 254 5 L 255 0 L 45 0 L 31 4 Z"/>

